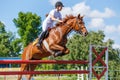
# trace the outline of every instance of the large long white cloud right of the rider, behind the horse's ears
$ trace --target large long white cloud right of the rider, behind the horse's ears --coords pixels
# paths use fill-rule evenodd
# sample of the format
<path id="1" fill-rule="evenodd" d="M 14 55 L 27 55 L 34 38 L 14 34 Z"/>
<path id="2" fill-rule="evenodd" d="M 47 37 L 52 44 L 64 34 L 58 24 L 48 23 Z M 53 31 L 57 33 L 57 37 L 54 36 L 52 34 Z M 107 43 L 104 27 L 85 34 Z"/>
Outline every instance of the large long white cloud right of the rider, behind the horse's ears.
<path id="1" fill-rule="evenodd" d="M 104 12 L 100 12 L 98 10 L 91 10 L 90 6 L 86 5 L 85 2 L 77 3 L 72 7 L 64 7 L 62 10 L 63 16 L 68 14 L 77 15 L 79 13 L 90 18 L 110 18 L 115 16 L 115 12 L 110 8 L 105 8 Z"/>

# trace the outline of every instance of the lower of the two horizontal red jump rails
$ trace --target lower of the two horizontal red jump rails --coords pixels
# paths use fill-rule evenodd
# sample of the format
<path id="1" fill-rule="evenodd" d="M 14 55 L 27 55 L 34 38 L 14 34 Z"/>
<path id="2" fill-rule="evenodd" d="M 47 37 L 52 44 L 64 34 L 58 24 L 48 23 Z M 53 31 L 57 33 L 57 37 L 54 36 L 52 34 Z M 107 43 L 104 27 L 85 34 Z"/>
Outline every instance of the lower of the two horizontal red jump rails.
<path id="1" fill-rule="evenodd" d="M 53 70 L 53 71 L 4 71 L 0 75 L 26 75 L 26 74 L 89 74 L 87 70 Z"/>

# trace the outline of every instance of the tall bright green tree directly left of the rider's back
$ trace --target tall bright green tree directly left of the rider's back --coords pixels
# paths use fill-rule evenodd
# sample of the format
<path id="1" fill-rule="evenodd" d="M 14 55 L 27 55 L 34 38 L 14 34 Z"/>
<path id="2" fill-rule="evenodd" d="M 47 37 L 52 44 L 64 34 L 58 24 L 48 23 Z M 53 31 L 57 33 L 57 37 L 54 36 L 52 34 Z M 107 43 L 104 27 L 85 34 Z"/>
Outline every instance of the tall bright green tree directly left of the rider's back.
<path id="1" fill-rule="evenodd" d="M 41 32 L 41 17 L 31 12 L 19 12 L 18 18 L 14 18 L 13 22 L 18 28 L 23 47 L 32 42 Z"/>

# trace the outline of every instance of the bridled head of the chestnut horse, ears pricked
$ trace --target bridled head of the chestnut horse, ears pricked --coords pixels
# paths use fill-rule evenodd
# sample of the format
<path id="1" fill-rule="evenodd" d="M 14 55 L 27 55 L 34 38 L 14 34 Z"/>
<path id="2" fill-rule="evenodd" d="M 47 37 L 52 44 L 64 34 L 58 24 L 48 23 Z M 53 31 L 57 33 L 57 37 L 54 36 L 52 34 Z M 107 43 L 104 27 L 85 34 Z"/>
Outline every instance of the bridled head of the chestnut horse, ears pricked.
<path id="1" fill-rule="evenodd" d="M 78 16 L 73 19 L 72 24 L 73 30 L 75 30 L 76 32 L 82 34 L 83 36 L 86 36 L 88 34 L 83 21 L 83 16 L 80 16 L 80 14 L 78 14 Z"/>

